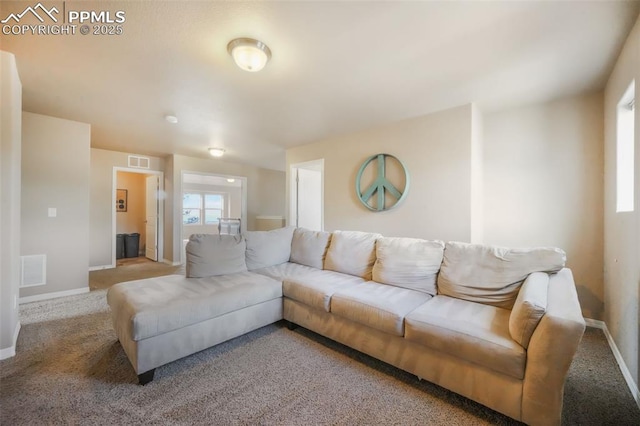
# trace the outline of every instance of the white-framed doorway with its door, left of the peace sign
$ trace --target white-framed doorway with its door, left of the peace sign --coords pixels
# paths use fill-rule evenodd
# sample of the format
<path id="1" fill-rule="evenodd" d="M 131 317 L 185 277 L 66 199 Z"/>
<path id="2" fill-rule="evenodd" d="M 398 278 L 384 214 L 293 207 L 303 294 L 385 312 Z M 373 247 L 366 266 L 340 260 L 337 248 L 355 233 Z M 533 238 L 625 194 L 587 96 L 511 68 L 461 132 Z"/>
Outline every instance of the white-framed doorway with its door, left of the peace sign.
<path id="1" fill-rule="evenodd" d="M 324 159 L 291 165 L 289 225 L 324 230 Z"/>

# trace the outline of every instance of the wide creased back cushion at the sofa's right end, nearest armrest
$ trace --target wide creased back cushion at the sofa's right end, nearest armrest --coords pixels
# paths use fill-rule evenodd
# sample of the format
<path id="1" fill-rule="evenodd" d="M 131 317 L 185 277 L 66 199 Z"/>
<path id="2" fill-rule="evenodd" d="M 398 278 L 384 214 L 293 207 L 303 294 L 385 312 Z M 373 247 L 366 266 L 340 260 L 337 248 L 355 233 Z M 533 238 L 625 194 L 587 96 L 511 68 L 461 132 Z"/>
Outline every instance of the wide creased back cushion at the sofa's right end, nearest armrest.
<path id="1" fill-rule="evenodd" d="M 566 255 L 557 248 L 509 249 L 450 242 L 438 275 L 438 294 L 511 309 L 532 272 L 558 272 Z"/>

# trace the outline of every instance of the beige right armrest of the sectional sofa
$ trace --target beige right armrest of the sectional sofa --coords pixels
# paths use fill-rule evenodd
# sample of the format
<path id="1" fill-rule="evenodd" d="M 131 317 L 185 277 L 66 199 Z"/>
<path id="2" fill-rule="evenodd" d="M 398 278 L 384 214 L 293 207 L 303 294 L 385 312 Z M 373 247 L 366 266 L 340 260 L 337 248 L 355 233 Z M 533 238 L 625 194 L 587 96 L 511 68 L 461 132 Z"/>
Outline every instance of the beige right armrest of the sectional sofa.
<path id="1" fill-rule="evenodd" d="M 527 350 L 522 421 L 559 425 L 564 383 L 585 329 L 573 274 L 564 268 L 549 279 L 547 311 Z"/>

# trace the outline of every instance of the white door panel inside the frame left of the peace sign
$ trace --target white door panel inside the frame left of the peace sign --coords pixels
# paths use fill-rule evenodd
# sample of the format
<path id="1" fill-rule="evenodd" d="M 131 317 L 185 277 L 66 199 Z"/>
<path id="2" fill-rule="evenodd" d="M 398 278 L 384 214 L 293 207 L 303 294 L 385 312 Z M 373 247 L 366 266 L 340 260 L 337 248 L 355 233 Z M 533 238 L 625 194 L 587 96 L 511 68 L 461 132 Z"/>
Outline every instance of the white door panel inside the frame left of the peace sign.
<path id="1" fill-rule="evenodd" d="M 322 230 L 322 172 L 296 169 L 296 225 L 301 228 Z"/>

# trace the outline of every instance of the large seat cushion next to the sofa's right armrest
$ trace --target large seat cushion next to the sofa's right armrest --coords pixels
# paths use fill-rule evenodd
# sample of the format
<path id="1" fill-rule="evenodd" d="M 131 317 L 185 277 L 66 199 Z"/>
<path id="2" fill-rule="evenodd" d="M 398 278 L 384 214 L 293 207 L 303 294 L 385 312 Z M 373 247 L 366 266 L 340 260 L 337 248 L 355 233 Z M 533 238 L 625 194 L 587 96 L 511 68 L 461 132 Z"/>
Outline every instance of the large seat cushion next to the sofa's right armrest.
<path id="1" fill-rule="evenodd" d="M 516 379 L 526 352 L 509 334 L 508 309 L 436 296 L 405 318 L 405 338 Z"/>

